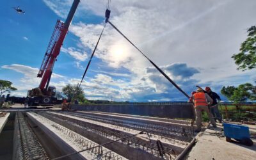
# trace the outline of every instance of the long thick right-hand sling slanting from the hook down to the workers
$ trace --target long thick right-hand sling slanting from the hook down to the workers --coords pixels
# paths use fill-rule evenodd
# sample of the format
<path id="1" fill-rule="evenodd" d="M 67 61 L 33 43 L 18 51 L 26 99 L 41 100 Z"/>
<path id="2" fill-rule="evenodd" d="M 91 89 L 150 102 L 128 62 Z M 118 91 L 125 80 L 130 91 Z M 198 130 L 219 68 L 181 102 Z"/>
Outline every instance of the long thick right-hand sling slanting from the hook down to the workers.
<path id="1" fill-rule="evenodd" d="M 119 29 L 117 29 L 116 26 L 114 26 L 109 20 L 108 20 L 108 22 L 109 22 L 109 24 L 110 24 L 113 28 L 116 29 L 116 31 L 118 31 L 118 33 L 120 33 L 122 36 L 124 36 L 124 38 L 125 38 L 128 42 L 130 42 L 130 44 L 132 44 L 132 42 L 131 42 Z M 161 70 L 159 67 L 157 67 L 157 65 L 156 65 L 153 61 L 151 61 L 145 54 L 143 54 L 143 52 L 141 52 L 140 49 L 138 49 L 138 47 L 136 47 L 136 45 L 134 45 L 134 44 L 132 44 L 132 45 L 133 45 L 145 58 L 147 58 L 147 60 L 150 61 L 150 63 L 151 63 L 152 65 L 154 65 L 154 67 L 156 67 L 157 70 L 158 70 L 161 74 L 163 74 L 163 76 L 166 77 L 166 79 L 168 79 L 168 81 L 170 81 L 170 83 L 173 84 L 173 86 L 175 86 L 180 92 L 182 92 L 182 93 L 183 93 L 186 97 L 188 97 L 188 99 L 189 99 L 189 95 L 188 95 L 186 92 L 184 92 L 174 81 L 172 81 L 172 79 L 170 79 L 170 77 L 168 77 L 168 76 L 163 72 L 163 70 Z"/>

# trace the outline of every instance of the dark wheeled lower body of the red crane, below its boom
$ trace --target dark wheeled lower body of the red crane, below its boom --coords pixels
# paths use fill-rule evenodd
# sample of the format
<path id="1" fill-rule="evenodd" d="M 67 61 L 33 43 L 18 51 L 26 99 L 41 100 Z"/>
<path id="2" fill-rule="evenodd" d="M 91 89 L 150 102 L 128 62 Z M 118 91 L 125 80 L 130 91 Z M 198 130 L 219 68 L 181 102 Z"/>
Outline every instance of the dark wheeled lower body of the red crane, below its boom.
<path id="1" fill-rule="evenodd" d="M 36 106 L 53 106 L 56 104 L 56 88 L 55 86 L 49 86 L 47 90 L 40 90 L 40 88 L 33 88 L 28 91 L 29 107 Z"/>

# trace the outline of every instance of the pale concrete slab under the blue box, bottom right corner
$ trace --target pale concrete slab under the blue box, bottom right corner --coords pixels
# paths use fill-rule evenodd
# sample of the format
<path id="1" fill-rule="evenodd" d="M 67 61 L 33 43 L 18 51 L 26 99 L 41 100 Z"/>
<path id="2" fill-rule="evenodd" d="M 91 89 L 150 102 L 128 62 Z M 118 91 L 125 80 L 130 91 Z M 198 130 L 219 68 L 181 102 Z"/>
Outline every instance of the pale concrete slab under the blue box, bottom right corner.
<path id="1" fill-rule="evenodd" d="M 186 159 L 255 159 L 256 146 L 247 147 L 240 143 L 229 143 L 225 141 L 221 125 L 217 129 L 206 129 L 196 136 L 196 145 L 191 149 Z"/>

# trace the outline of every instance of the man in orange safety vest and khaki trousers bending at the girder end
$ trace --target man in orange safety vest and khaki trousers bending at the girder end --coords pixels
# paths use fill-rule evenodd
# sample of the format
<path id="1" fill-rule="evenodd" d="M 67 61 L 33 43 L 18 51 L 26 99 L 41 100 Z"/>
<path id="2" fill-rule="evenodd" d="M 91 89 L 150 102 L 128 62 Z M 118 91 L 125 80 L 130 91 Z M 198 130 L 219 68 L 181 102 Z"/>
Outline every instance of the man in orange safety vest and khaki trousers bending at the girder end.
<path id="1" fill-rule="evenodd" d="M 212 104 L 212 99 L 207 93 L 204 93 L 202 88 L 198 88 L 196 93 L 193 95 L 193 103 L 195 106 L 196 113 L 196 130 L 195 132 L 200 132 L 202 127 L 202 111 L 205 111 L 211 121 L 213 127 L 216 127 L 216 122 L 212 117 L 208 105 Z"/>

